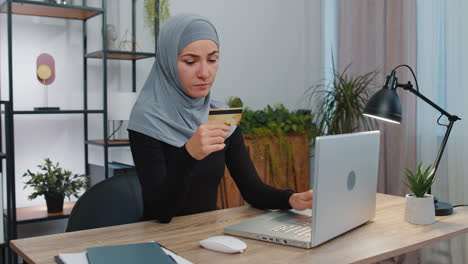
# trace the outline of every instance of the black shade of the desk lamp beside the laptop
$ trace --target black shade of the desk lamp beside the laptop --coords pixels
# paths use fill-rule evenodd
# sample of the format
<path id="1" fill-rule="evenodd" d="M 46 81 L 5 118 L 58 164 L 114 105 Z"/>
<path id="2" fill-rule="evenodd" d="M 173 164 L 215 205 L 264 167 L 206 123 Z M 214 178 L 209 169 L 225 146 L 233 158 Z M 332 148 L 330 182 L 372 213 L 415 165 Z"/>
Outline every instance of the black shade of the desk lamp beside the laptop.
<path id="1" fill-rule="evenodd" d="M 363 114 L 392 123 L 401 122 L 401 103 L 396 89 L 382 88 L 364 108 Z"/>

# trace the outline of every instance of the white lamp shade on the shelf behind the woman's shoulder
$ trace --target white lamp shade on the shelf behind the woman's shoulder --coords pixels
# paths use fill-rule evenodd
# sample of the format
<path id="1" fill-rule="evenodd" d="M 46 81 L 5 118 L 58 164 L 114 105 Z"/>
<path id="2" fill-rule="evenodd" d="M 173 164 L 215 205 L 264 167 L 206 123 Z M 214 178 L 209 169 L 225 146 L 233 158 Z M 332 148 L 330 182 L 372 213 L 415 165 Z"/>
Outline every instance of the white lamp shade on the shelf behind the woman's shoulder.
<path id="1" fill-rule="evenodd" d="M 107 97 L 107 119 L 108 120 L 128 120 L 133 105 L 135 104 L 137 93 L 112 92 Z"/>

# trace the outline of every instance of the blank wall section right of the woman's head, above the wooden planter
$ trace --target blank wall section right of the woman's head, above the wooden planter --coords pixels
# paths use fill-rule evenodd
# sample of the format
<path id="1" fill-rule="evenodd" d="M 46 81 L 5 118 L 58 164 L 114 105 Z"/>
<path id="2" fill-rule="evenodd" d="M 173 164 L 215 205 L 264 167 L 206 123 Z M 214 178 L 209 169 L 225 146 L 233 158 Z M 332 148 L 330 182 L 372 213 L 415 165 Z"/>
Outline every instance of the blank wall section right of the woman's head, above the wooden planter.
<path id="1" fill-rule="evenodd" d="M 239 96 L 254 109 L 283 103 L 297 108 L 320 79 L 320 1 L 173 0 L 172 14 L 203 15 L 220 38 L 213 96 Z"/>

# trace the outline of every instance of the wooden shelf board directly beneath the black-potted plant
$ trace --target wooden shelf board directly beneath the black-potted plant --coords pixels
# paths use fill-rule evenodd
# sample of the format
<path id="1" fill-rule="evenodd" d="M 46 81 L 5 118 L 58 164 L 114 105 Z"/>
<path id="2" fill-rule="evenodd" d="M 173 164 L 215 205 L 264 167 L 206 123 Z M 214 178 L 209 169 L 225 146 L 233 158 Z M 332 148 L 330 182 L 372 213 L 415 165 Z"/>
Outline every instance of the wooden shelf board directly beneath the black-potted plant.
<path id="1" fill-rule="evenodd" d="M 61 213 L 47 213 L 47 206 L 31 206 L 16 208 L 16 221 L 18 224 L 34 223 L 44 220 L 54 220 L 61 218 L 68 218 L 75 202 L 63 203 L 63 212 Z"/>

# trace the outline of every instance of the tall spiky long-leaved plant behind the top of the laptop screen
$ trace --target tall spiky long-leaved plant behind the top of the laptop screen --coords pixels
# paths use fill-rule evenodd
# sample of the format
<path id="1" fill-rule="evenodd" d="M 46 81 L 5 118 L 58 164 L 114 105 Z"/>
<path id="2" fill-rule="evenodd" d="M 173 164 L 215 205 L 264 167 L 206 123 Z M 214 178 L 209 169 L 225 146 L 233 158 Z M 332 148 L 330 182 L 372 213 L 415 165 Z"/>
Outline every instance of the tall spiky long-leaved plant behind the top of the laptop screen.
<path id="1" fill-rule="evenodd" d="M 314 103 L 315 122 L 323 135 L 370 130 L 375 127 L 372 119 L 362 115 L 374 86 L 377 71 L 362 75 L 348 74 L 348 65 L 338 72 L 333 64 L 333 79 L 311 86 L 306 91 L 309 104 Z"/>

